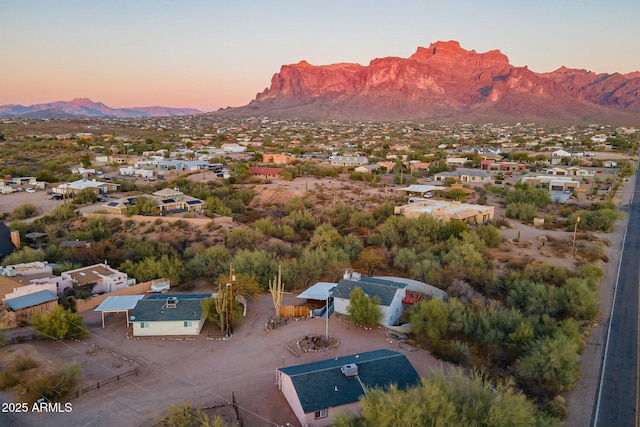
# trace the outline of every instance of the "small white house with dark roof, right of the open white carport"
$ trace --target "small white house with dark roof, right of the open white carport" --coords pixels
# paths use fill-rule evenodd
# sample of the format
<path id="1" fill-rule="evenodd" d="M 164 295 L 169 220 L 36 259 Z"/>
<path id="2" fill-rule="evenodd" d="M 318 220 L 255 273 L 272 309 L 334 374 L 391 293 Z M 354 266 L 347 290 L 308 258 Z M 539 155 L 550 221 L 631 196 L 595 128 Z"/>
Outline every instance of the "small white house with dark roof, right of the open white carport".
<path id="1" fill-rule="evenodd" d="M 200 335 L 205 315 L 200 302 L 209 295 L 154 295 L 131 313 L 133 336 Z"/>

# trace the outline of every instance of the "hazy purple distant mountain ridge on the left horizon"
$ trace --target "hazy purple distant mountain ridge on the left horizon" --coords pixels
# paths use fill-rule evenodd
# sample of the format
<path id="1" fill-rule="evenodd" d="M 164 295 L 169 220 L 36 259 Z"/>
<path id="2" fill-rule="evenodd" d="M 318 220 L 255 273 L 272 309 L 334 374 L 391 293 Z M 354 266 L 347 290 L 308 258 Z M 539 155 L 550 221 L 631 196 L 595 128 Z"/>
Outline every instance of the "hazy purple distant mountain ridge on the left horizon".
<path id="1" fill-rule="evenodd" d="M 202 111 L 194 108 L 171 107 L 134 107 L 111 108 L 102 102 L 93 102 L 88 98 L 75 98 L 72 101 L 57 101 L 46 104 L 0 105 L 0 117 L 32 118 L 32 119 L 68 119 L 74 117 L 89 118 L 129 118 L 129 117 L 162 117 L 162 116 L 187 116 L 202 114 Z"/>

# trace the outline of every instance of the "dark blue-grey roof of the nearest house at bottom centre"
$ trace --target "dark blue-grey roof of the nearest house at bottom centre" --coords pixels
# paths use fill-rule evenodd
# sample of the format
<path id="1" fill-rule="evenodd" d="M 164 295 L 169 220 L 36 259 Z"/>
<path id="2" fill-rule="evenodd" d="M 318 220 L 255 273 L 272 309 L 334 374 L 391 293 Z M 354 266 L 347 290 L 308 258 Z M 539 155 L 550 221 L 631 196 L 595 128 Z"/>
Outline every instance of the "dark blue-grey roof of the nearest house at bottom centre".
<path id="1" fill-rule="evenodd" d="M 360 381 L 345 376 L 340 370 L 352 363 L 357 365 L 358 377 L 365 387 L 384 389 L 396 384 L 403 390 L 420 382 L 418 373 L 404 354 L 386 349 L 279 370 L 291 377 L 304 412 L 310 413 L 354 403 L 364 395 Z"/>

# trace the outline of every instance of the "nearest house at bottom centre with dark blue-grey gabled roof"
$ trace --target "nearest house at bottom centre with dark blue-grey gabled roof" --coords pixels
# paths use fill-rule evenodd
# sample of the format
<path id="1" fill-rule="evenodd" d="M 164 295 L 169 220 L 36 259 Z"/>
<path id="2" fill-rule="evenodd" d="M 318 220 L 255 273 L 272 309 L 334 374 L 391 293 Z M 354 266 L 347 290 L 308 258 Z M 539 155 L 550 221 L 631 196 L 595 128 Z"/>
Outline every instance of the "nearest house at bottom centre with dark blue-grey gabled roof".
<path id="1" fill-rule="evenodd" d="M 407 357 L 381 349 L 278 368 L 276 384 L 302 426 L 328 426 L 343 412 L 360 415 L 365 389 L 405 390 L 420 383 Z"/>

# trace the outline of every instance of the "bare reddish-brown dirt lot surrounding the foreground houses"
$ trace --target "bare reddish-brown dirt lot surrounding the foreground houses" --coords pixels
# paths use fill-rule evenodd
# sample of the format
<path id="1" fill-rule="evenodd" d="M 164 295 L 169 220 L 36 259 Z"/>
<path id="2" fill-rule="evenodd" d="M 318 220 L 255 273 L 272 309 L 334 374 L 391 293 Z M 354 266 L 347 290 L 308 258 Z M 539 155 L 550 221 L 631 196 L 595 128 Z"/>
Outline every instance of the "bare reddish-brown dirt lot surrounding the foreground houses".
<path id="1" fill-rule="evenodd" d="M 284 303 L 296 303 L 296 298 L 287 295 Z M 329 319 L 329 333 L 340 340 L 339 346 L 318 353 L 298 351 L 296 356 L 286 346 L 296 349 L 301 337 L 324 335 L 325 320 L 294 320 L 267 331 L 265 322 L 272 313 L 270 295 L 250 300 L 247 318 L 228 340 L 207 339 L 207 334 L 219 333 L 211 323 L 196 339 L 130 339 L 125 336 L 124 314 L 108 315 L 103 329 L 98 313 L 86 313 L 91 333 L 83 342 L 31 341 L 12 345 L 9 350 L 37 351 L 36 360 L 76 359 L 85 366 L 86 384 L 128 371 L 134 364 L 140 366 L 140 375 L 71 399 L 71 413 L 17 414 L 9 425 L 152 426 L 156 415 L 169 404 L 188 401 L 210 406 L 231 400 L 232 393 L 248 427 L 298 425 L 274 384 L 279 367 L 379 348 L 405 353 L 421 374 L 444 366 L 427 351 L 401 348 L 387 337 L 384 328 L 365 330 L 335 315 Z M 7 393 L 0 397 L 9 402 L 14 399 Z"/>

